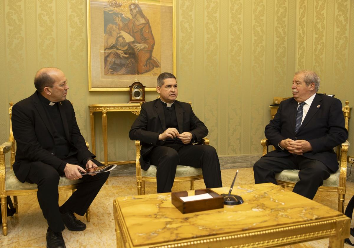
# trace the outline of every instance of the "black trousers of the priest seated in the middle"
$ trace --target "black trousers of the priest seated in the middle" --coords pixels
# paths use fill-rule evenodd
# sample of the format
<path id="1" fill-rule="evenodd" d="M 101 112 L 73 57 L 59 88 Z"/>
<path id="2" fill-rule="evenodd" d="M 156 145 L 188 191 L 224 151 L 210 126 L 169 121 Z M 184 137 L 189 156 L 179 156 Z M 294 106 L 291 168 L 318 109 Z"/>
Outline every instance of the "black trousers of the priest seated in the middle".
<path id="1" fill-rule="evenodd" d="M 201 168 L 207 188 L 222 187 L 218 154 L 209 145 L 156 146 L 149 153 L 150 163 L 156 165 L 157 192 L 171 192 L 177 165 Z"/>

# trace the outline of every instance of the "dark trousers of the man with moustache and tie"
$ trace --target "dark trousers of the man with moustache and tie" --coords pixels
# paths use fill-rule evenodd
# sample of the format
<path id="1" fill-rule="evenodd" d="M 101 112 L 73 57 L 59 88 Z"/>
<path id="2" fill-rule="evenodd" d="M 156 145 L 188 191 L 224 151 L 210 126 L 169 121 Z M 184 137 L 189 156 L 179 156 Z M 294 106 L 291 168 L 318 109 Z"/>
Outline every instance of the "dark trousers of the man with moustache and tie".
<path id="1" fill-rule="evenodd" d="M 253 165 L 255 183 L 272 182 L 277 184 L 275 173 L 280 173 L 286 169 L 300 170 L 300 181 L 295 184 L 293 192 L 309 199 L 315 197 L 318 187 L 323 184 L 323 180 L 326 180 L 330 173 L 333 173 L 324 163 L 303 156 L 262 157 Z"/>

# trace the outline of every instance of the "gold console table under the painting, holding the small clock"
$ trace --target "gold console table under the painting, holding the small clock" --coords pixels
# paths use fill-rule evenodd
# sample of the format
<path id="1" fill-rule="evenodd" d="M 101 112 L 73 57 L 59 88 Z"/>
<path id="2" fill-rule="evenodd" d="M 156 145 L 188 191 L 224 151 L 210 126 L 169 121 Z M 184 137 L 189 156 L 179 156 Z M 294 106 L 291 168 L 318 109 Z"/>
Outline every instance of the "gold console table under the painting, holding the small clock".
<path id="1" fill-rule="evenodd" d="M 104 165 L 108 165 L 108 148 L 107 148 L 107 112 L 132 112 L 139 115 L 141 103 L 98 103 L 90 104 L 90 124 L 91 124 L 91 142 L 92 153 L 96 154 L 96 141 L 95 141 L 95 119 L 93 112 L 102 113 L 102 135 L 103 135 L 103 153 Z M 113 161 L 112 164 L 127 164 L 134 163 L 135 160 L 127 161 Z"/>

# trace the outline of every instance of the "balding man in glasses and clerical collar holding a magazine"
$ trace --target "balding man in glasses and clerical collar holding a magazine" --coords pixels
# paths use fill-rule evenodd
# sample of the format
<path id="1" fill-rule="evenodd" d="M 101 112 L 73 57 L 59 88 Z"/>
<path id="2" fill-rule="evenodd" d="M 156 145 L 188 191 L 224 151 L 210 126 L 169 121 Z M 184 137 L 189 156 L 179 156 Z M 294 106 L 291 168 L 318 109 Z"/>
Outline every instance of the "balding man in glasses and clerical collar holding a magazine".
<path id="1" fill-rule="evenodd" d="M 36 92 L 12 108 L 12 130 L 17 142 L 13 171 L 21 182 L 37 184 L 37 198 L 48 222 L 47 247 L 65 247 L 64 225 L 83 231 L 84 215 L 109 173 L 82 176 L 85 168 L 102 166 L 86 147 L 72 104 L 65 100 L 69 86 L 57 68 L 42 68 L 35 76 Z M 58 205 L 60 176 L 81 180 L 78 189 Z"/>

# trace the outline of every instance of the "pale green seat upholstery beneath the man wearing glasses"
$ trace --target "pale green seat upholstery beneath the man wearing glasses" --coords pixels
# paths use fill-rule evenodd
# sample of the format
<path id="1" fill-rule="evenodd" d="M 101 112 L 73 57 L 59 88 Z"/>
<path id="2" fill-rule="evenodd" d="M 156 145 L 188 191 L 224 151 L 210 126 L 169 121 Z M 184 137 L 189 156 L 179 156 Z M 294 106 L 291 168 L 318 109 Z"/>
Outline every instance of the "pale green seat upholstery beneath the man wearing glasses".
<path id="1" fill-rule="evenodd" d="M 81 180 L 70 180 L 66 177 L 61 177 L 59 180 L 59 187 L 67 186 L 67 185 L 74 185 L 79 184 Z M 6 179 L 5 179 L 5 190 L 36 190 L 36 184 L 30 184 L 29 182 L 20 182 L 18 181 L 15 173 L 13 170 L 9 170 L 6 172 Z"/>

